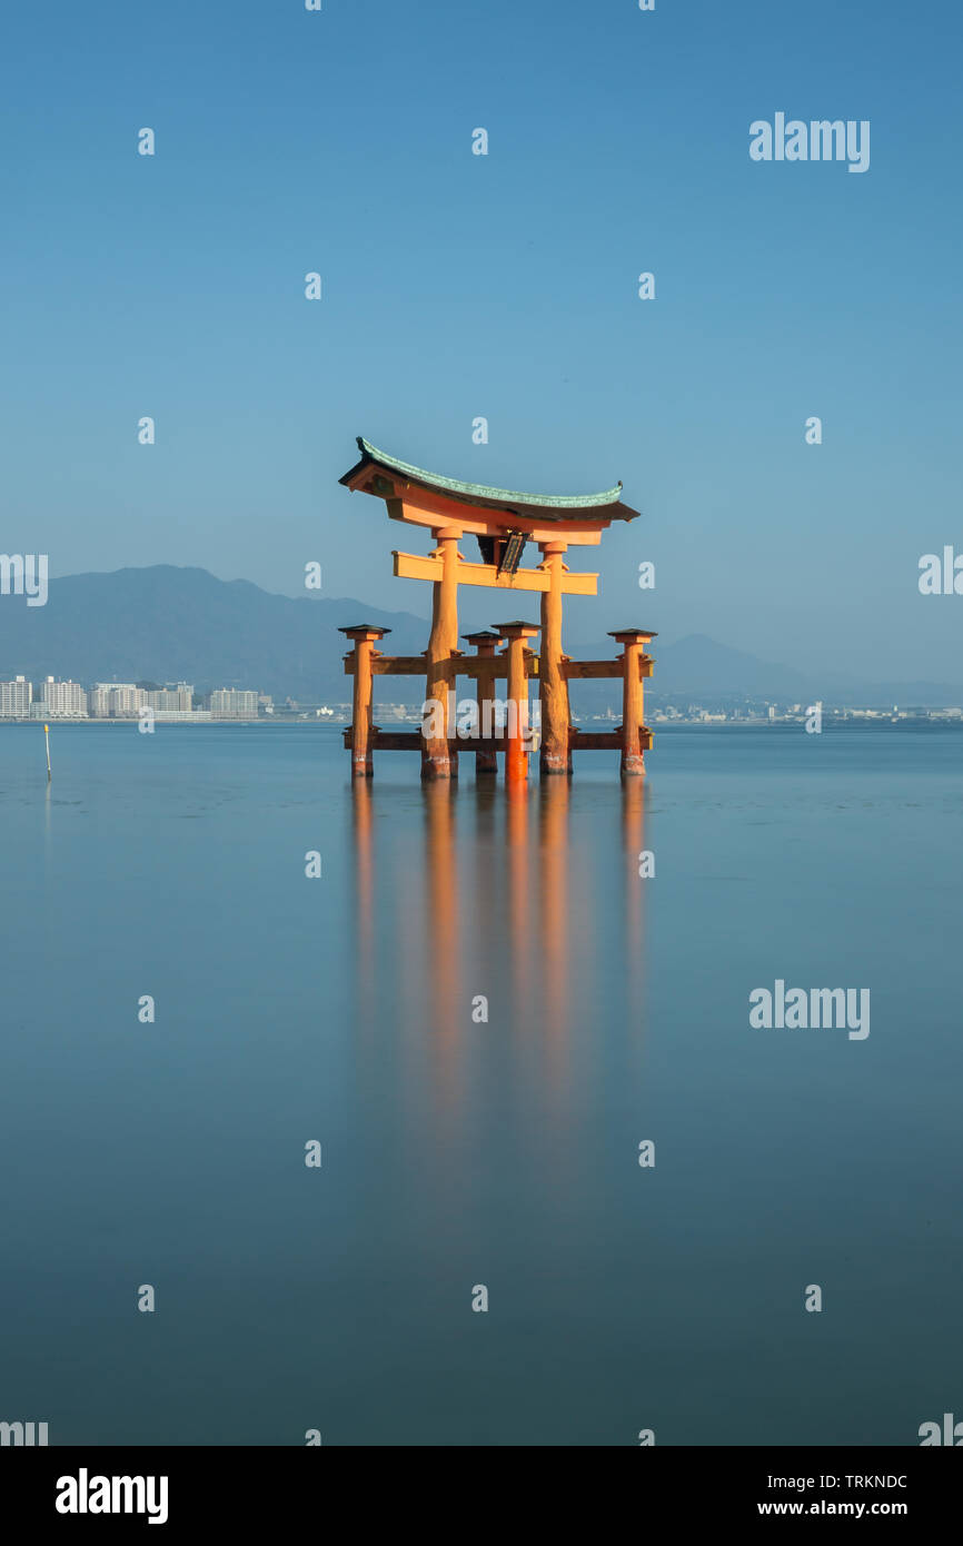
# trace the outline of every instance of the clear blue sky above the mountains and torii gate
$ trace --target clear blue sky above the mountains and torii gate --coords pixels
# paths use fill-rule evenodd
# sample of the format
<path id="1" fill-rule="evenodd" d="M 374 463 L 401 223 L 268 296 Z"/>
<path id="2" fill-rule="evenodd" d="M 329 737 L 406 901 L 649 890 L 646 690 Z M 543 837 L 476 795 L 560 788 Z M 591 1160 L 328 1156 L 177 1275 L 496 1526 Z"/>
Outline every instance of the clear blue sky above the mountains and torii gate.
<path id="1" fill-rule="evenodd" d="M 363 433 L 623 481 L 645 518 L 575 558 L 603 581 L 572 643 L 958 679 L 963 597 L 917 563 L 963 552 L 961 45 L 957 5 L 897 0 L 8 11 L 0 546 L 286 594 L 320 560 L 325 594 L 424 612 L 390 560 L 424 541 L 337 485 Z M 869 119 L 870 170 L 751 162 L 776 111 Z"/>

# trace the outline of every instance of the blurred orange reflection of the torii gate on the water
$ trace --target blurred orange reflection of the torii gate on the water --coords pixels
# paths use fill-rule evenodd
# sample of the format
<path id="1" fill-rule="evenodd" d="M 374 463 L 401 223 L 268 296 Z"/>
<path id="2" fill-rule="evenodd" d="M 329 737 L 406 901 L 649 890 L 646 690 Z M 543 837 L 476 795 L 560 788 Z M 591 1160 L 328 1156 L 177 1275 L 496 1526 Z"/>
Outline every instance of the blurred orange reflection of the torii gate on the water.
<path id="1" fill-rule="evenodd" d="M 538 1054 L 543 1096 L 560 1119 L 590 1056 L 586 1022 L 609 1045 L 624 1042 L 626 1056 L 640 1051 L 648 787 L 628 779 L 609 790 L 618 827 L 597 843 L 598 810 L 573 836 L 567 779 L 519 785 L 507 799 L 485 779 L 461 790 L 425 781 L 405 790 L 403 815 L 414 819 L 400 827 L 397 787 L 349 785 L 362 1054 L 391 1047 L 399 1071 L 428 1081 L 427 1104 L 445 1125 L 478 1096 L 473 1078 L 485 1082 L 490 1042 L 499 1068 Z M 391 819 L 376 819 L 379 805 Z M 621 979 L 617 1025 L 600 1022 L 586 988 L 601 969 Z"/>

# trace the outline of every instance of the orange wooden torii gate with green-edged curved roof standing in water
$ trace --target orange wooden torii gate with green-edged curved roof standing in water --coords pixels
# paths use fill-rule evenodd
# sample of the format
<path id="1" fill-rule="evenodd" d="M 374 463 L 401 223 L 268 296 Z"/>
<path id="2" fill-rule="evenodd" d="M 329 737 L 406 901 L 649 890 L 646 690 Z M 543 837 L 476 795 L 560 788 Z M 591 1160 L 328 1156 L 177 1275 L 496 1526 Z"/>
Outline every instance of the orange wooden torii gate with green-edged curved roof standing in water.
<path id="1" fill-rule="evenodd" d="M 632 521 L 638 510 L 621 502 L 621 484 L 594 495 L 513 493 L 484 484 L 458 482 L 408 462 L 400 462 L 357 438 L 362 458 L 340 479 L 352 492 L 383 499 L 393 521 L 427 527 L 436 541 L 431 553 L 394 550 L 394 574 L 403 580 L 430 580 L 433 586 L 431 635 L 422 656 L 385 656 L 376 645 L 390 629 L 359 623 L 342 628 L 354 649 L 345 671 L 354 676 L 352 724 L 345 731 L 354 778 L 369 778 L 373 751 L 414 751 L 422 756 L 422 778 L 456 778 L 459 750 L 473 751 L 476 773 L 496 771 L 496 751 L 505 753 L 505 779 L 527 776 L 527 679 L 538 676 L 541 707 L 541 771 L 570 773 L 572 751 L 618 750 L 623 775 L 645 773 L 645 751 L 652 731 L 643 722 L 643 679 L 652 674 L 645 646 L 655 634 L 628 628 L 614 632 L 621 654 L 614 660 L 570 660 L 561 646 L 563 595 L 597 595 L 597 574 L 572 574 L 564 563 L 569 547 L 597 547 L 612 521 Z M 481 563 L 459 552 L 462 536 L 476 536 Z M 541 563 L 521 566 L 529 543 L 538 546 Z M 493 632 L 465 634 L 475 656 L 458 648 L 458 587 L 488 586 L 496 591 L 535 591 L 541 595 L 539 625 L 493 623 Z M 541 649 L 527 640 L 541 632 Z M 505 645 L 502 654 L 496 648 Z M 425 674 L 425 702 L 437 713 L 416 733 L 383 731 L 373 724 L 373 677 Z M 451 697 L 459 676 L 478 683 L 479 731 L 459 739 L 451 716 Z M 577 677 L 621 677 L 623 719 L 612 733 L 584 733 L 572 725 L 569 682 Z M 492 733 L 495 682 L 507 679 L 509 736 Z M 487 714 L 482 714 L 487 710 Z"/>

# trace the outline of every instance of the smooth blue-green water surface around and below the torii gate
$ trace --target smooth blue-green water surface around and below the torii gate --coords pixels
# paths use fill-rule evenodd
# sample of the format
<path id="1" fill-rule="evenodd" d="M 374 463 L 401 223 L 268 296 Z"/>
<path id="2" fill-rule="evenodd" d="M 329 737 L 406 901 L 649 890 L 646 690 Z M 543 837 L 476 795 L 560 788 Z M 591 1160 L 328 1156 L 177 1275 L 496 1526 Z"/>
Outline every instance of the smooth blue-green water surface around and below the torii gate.
<path id="1" fill-rule="evenodd" d="M 390 753 L 352 790 L 320 727 L 51 742 L 48 792 L 39 727 L 0 730 L 0 1419 L 697 1446 L 963 1413 L 963 736 L 666 730 L 645 787 L 586 753 L 516 799 Z M 869 988 L 869 1037 L 751 1030 L 778 977 Z"/>

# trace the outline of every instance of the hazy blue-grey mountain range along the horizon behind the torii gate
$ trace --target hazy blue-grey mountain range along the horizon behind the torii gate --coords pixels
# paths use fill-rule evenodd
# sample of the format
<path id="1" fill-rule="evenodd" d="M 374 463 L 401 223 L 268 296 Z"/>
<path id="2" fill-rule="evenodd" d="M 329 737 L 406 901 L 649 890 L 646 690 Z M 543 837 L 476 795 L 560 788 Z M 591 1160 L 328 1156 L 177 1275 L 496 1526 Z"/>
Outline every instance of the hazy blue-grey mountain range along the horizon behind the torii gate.
<path id="1" fill-rule="evenodd" d="M 216 580 L 206 569 L 155 564 L 113 574 L 68 575 L 49 581 L 46 606 L 0 598 L 0 679 L 73 677 L 76 682 L 192 682 L 246 686 L 277 700 L 346 702 L 348 648 L 339 628 L 374 623 L 390 628 L 385 649 L 417 654 L 428 625 L 411 612 L 383 612 L 356 600 L 271 595 L 247 580 Z M 569 643 L 572 656 L 606 659 L 614 640 Z M 776 702 L 960 703 L 963 688 L 934 682 L 856 682 L 771 665 L 691 634 L 658 646 L 657 673 L 646 688 L 668 699 L 768 697 Z M 420 702 L 413 677 L 385 682 L 383 699 Z M 615 682 L 580 682 L 573 694 L 587 708 L 615 702 Z"/>

